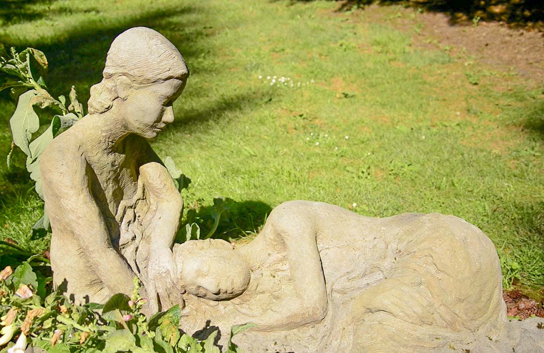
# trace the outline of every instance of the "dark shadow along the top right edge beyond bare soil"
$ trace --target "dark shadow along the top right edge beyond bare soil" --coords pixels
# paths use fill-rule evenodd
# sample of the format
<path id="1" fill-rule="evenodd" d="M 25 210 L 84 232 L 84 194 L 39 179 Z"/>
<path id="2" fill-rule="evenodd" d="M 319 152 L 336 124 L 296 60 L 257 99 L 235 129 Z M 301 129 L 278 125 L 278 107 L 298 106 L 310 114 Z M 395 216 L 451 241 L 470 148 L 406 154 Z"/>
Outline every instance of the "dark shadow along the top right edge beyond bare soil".
<path id="1" fill-rule="evenodd" d="M 312 2 L 314 0 L 292 0 L 292 2 Z M 541 0 L 526 0 L 517 4 L 514 1 L 475 1 L 475 0 L 336 0 L 340 3 L 337 11 L 349 11 L 377 3 L 382 6 L 403 5 L 425 11 L 441 12 L 450 17 L 452 25 L 467 23 L 474 18 L 486 21 L 504 21 L 518 27 L 533 26 L 544 21 L 544 4 Z M 544 26 L 541 24 L 540 26 Z"/>

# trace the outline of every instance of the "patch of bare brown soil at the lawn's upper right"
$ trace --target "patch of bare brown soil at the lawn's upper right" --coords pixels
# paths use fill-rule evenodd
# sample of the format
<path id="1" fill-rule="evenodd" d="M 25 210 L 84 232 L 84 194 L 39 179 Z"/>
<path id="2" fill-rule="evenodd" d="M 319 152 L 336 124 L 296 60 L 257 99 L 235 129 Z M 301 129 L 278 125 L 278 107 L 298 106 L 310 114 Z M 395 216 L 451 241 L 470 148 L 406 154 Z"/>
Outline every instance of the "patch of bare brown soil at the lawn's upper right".
<path id="1" fill-rule="evenodd" d="M 454 24 L 443 13 L 423 13 L 418 19 L 424 24 L 423 36 L 432 36 L 441 45 L 464 47 L 467 54 L 500 70 L 514 69 L 537 84 L 544 82 L 544 33 L 500 22 Z"/>

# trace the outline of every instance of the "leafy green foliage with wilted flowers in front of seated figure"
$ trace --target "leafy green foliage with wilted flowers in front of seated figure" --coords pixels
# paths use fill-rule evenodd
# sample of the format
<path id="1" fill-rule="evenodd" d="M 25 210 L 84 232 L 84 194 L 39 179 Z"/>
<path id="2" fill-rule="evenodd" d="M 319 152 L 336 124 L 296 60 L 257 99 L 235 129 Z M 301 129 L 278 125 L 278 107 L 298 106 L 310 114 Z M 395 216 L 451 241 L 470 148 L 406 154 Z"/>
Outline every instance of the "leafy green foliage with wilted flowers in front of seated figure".
<path id="1" fill-rule="evenodd" d="M 47 296 L 36 293 L 40 285 L 50 285 L 51 278 L 36 275 L 31 260 L 13 273 L 7 268 L 0 275 L 0 342 L 5 341 L 0 349 L 7 344 L 2 353 L 13 346 L 17 334 L 24 334 L 30 346 L 58 353 L 220 353 L 214 344 L 217 331 L 205 340 L 181 333 L 177 305 L 148 322 L 141 314 L 146 300 L 138 294 L 137 279 L 132 297 L 115 294 L 104 305 L 73 305 L 58 291 Z M 231 339 L 251 327 L 233 326 Z M 237 352 L 231 340 L 228 347 L 229 353 Z"/>

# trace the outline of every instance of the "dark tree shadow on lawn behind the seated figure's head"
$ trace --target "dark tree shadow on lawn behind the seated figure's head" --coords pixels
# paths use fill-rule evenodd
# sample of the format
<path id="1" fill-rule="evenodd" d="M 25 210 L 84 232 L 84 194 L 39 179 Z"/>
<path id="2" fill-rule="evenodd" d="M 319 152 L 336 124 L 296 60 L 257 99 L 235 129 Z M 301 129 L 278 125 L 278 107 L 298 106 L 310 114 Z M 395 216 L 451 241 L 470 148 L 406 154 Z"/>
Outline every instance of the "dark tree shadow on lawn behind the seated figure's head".
<path id="1" fill-rule="evenodd" d="M 197 14 L 200 14 L 197 16 Z M 172 29 L 168 19 L 174 16 L 183 17 L 183 28 Z M 182 53 L 190 68 L 191 59 L 202 52 L 202 37 L 207 33 L 202 31 L 205 14 L 193 7 L 156 9 L 129 19 L 117 22 L 92 21 L 84 26 L 73 26 L 69 33 L 53 39 L 32 41 L 14 38 L 0 38 L 5 46 L 23 48 L 35 47 L 46 54 L 50 63 L 46 82 L 53 95 L 68 94 L 72 85 L 76 86 L 79 101 L 86 110 L 90 87 L 100 82 L 102 70 L 106 63 L 106 54 L 113 39 L 121 32 L 131 27 L 145 26 L 155 29 L 166 36 Z M 180 35 L 180 33 L 182 35 Z M 200 45 L 199 45 L 200 42 Z M 2 95 L 8 99 L 7 95 Z"/>

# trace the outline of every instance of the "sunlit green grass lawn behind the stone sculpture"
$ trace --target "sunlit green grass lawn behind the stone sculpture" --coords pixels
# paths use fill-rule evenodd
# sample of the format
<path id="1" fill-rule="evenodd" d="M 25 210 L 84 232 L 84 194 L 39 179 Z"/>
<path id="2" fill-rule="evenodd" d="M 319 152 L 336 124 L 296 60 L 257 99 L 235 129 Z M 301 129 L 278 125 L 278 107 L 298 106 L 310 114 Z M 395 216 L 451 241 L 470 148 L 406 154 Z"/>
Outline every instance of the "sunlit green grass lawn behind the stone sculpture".
<path id="1" fill-rule="evenodd" d="M 338 13 L 329 1 L 18 6 L 0 13 L 0 42 L 44 51 L 57 95 L 73 84 L 86 101 L 110 42 L 129 27 L 154 28 L 180 49 L 191 76 L 153 147 L 192 179 L 184 199 L 202 218 L 214 196 L 232 199 L 225 238 L 256 232 L 292 199 L 376 217 L 442 212 L 492 239 L 505 287 L 516 277 L 543 295 L 543 87 L 463 51 L 423 49 L 415 11 Z M 398 20 L 410 29 L 395 30 Z M 4 156 L 13 110 L 3 94 Z M 0 239 L 44 251 L 48 239 L 30 236 L 41 209 L 27 175 L 0 163 Z"/>

